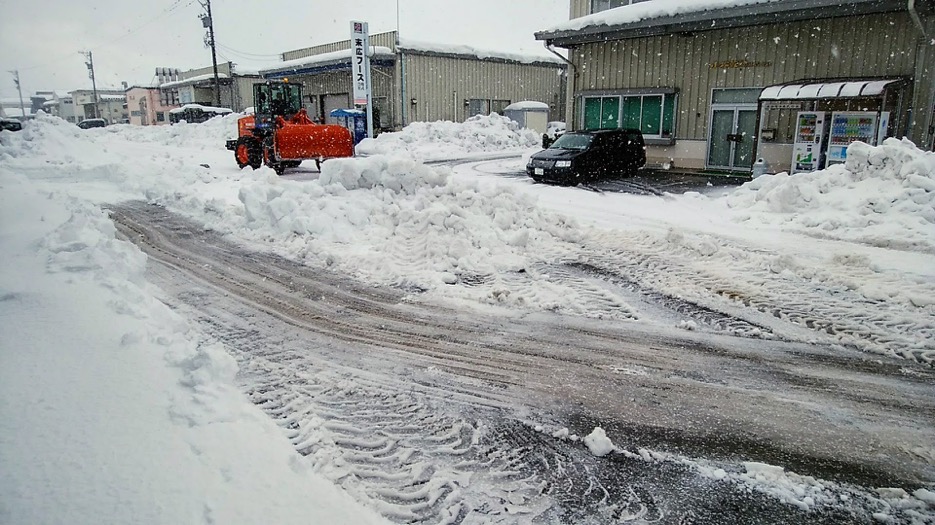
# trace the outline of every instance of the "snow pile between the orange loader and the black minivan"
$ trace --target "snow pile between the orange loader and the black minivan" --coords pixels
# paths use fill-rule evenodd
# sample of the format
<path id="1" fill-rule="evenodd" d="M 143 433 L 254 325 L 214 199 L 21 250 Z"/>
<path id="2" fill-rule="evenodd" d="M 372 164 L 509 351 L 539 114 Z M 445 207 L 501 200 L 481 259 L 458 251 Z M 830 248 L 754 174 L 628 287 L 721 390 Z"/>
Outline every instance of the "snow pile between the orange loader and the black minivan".
<path id="1" fill-rule="evenodd" d="M 492 113 L 465 122 L 413 122 L 402 131 L 364 139 L 357 145 L 357 153 L 404 155 L 416 160 L 454 159 L 474 153 L 532 148 L 540 140 L 535 131 Z"/>

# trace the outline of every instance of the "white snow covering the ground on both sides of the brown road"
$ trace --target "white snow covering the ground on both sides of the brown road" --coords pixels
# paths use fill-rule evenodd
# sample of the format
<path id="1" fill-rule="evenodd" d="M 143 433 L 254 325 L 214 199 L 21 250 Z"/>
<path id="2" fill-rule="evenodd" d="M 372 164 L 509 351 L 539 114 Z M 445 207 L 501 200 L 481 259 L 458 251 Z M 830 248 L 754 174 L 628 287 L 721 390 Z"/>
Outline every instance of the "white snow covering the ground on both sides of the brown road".
<path id="1" fill-rule="evenodd" d="M 367 158 L 284 177 L 237 169 L 223 147 L 236 118 L 79 130 L 40 115 L 0 132 L 2 521 L 379 522 L 309 472 L 234 389 L 226 350 L 159 302 L 145 257 L 115 239 L 102 211 L 122 200 L 414 300 L 659 322 L 556 265 L 632 254 L 646 270 L 636 277 L 673 297 L 802 304 L 840 318 L 868 351 L 931 351 L 931 154 L 909 144 L 853 146 L 843 168 L 727 196 L 643 197 L 503 177 L 538 137 L 496 115 L 413 125 L 365 142 Z M 479 152 L 515 158 L 490 161 L 490 173 L 420 162 Z M 890 201 L 850 208 L 865 192 Z M 814 199 L 838 219 L 809 222 Z M 866 210 L 873 223 L 861 222 Z M 864 226 L 876 231 L 858 235 Z M 889 243 L 878 242 L 884 232 Z"/>

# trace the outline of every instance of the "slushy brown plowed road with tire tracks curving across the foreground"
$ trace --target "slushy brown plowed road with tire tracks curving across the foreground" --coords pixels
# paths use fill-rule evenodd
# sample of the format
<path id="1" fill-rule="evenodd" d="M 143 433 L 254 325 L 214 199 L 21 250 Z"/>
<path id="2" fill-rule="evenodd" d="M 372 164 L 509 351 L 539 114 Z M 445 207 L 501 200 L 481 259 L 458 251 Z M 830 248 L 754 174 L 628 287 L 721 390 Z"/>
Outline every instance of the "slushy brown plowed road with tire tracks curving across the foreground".
<path id="1" fill-rule="evenodd" d="M 861 522 L 882 505 L 872 487 L 933 475 L 929 368 L 750 338 L 740 318 L 715 321 L 646 290 L 660 312 L 735 324 L 673 338 L 582 317 L 456 311 L 251 253 L 161 207 L 111 209 L 156 263 L 163 300 L 234 351 L 242 387 L 296 450 L 393 520 Z M 585 292 L 613 288 L 605 275 L 566 272 L 556 279 Z M 564 438 L 595 426 L 616 460 Z M 749 493 L 727 473 L 751 458 L 823 488 Z M 723 477 L 705 475 L 716 469 Z M 603 496 L 586 497 L 594 490 Z M 803 497 L 801 515 L 782 503 Z"/>

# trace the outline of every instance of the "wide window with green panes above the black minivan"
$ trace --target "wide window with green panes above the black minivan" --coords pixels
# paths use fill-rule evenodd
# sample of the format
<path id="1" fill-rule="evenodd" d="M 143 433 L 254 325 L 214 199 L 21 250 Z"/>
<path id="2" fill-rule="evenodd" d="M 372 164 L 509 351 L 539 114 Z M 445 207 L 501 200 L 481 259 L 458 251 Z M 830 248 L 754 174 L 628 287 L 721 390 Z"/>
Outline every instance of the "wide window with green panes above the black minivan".
<path id="1" fill-rule="evenodd" d="M 675 135 L 675 93 L 585 97 L 584 129 L 635 128 L 648 138 Z"/>

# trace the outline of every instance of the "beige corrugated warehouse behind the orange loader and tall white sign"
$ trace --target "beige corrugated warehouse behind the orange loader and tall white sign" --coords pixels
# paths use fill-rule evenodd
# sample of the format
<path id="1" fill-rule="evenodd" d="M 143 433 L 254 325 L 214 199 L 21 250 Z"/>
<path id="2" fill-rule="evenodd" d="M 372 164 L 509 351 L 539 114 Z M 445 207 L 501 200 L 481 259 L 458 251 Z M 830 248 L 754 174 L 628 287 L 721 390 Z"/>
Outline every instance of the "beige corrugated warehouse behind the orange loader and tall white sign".
<path id="1" fill-rule="evenodd" d="M 375 128 L 502 114 L 511 103 L 527 100 L 548 104 L 551 120 L 564 119 L 566 64 L 557 57 L 398 43 L 395 31 L 371 35 L 370 44 Z M 353 107 L 350 51 L 350 40 L 289 51 L 282 65 L 260 74 L 301 82 L 309 116 L 328 121 L 331 110 Z"/>

